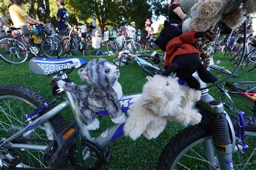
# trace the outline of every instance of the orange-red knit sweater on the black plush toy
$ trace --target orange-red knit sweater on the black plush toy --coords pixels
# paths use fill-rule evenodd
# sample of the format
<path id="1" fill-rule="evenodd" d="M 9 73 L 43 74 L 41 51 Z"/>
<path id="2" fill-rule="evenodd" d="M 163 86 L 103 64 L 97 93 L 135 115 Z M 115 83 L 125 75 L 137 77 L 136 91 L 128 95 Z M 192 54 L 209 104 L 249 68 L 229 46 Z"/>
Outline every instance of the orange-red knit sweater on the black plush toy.
<path id="1" fill-rule="evenodd" d="M 197 32 L 184 33 L 168 42 L 166 45 L 165 67 L 171 66 L 173 59 L 177 55 L 196 53 L 198 57 L 200 56 L 198 49 L 191 45 L 197 40 L 194 38 L 195 33 Z"/>

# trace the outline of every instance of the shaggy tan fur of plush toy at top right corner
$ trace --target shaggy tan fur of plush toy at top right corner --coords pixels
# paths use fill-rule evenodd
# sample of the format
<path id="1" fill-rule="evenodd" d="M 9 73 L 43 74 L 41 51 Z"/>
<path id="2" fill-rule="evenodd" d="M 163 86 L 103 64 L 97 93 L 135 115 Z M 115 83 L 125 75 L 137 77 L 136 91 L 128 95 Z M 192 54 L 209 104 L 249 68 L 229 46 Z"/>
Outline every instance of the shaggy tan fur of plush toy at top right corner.
<path id="1" fill-rule="evenodd" d="M 182 0 L 182 4 L 186 4 L 189 0 Z M 196 11 L 196 15 L 192 17 L 190 22 L 190 31 L 206 31 L 211 26 L 215 26 L 223 17 L 231 0 L 199 0 L 198 3 L 191 6 L 191 13 Z M 232 12 L 225 14 L 224 22 L 231 29 L 238 27 L 244 22 L 244 13 L 250 14 L 256 12 L 256 3 L 254 0 L 248 0 L 242 6 L 235 8 Z"/>

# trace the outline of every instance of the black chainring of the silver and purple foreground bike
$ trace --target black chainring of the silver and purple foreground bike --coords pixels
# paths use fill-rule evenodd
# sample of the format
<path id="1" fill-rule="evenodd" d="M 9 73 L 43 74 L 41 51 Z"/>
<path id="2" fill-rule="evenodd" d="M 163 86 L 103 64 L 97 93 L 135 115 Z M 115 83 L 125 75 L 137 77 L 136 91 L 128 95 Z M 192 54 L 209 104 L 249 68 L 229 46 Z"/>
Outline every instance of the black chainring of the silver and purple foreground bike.
<path id="1" fill-rule="evenodd" d="M 104 163 L 104 155 L 100 148 L 88 140 L 81 141 L 83 162 L 78 160 L 77 145 L 72 144 L 69 149 L 70 162 L 78 169 L 100 169 Z"/>

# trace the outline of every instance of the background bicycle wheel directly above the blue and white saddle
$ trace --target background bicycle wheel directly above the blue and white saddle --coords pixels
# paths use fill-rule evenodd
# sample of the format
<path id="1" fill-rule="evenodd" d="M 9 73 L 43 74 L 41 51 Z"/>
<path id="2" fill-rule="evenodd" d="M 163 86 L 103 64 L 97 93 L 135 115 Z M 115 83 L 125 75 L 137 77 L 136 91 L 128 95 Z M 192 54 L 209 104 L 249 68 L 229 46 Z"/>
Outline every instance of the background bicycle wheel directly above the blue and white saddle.
<path id="1" fill-rule="evenodd" d="M 57 53 L 63 52 L 63 46 L 59 46 L 60 40 L 56 37 L 46 37 L 40 46 L 42 53 L 48 58 L 57 58 Z M 58 49 L 59 48 L 59 49 Z"/>

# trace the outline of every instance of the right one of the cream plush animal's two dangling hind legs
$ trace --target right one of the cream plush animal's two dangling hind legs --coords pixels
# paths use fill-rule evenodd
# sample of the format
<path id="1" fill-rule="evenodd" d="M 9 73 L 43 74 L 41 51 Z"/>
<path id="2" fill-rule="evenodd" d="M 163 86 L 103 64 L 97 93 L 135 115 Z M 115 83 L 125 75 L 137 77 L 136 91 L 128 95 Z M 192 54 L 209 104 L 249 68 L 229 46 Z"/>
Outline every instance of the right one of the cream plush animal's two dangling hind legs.
<path id="1" fill-rule="evenodd" d="M 165 129 L 166 119 L 163 117 L 157 117 L 154 121 L 147 125 L 146 131 L 143 136 L 147 139 L 157 138 L 161 132 Z"/>

